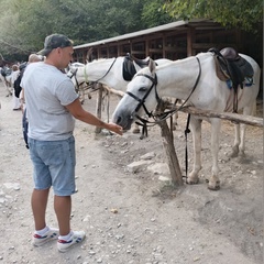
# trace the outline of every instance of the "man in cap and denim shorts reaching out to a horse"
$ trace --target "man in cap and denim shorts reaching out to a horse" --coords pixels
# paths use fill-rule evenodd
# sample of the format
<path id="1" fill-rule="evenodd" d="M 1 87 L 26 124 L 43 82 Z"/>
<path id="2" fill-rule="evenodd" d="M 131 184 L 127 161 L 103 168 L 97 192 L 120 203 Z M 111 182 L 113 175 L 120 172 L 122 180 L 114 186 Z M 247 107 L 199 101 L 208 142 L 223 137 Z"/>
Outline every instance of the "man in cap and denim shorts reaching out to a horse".
<path id="1" fill-rule="evenodd" d="M 33 244 L 57 239 L 59 252 L 85 240 L 84 231 L 70 228 L 72 195 L 75 194 L 75 119 L 122 135 L 122 128 L 106 123 L 87 112 L 73 81 L 61 72 L 73 59 L 73 42 L 65 35 L 46 36 L 38 53 L 44 62 L 26 66 L 22 78 L 29 119 L 30 156 L 34 167 L 32 210 L 35 222 Z M 51 187 L 58 229 L 46 224 L 45 212 Z"/>

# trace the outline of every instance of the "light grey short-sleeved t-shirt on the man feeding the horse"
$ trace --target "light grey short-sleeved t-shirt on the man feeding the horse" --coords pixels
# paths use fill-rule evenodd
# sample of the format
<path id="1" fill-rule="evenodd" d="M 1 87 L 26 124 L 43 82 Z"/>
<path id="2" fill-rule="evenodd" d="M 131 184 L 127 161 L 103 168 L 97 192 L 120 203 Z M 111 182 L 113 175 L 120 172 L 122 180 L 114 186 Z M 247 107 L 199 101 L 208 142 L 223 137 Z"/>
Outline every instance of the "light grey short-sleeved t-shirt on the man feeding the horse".
<path id="1" fill-rule="evenodd" d="M 73 135 L 75 119 L 65 108 L 78 98 L 73 81 L 43 62 L 26 66 L 24 89 L 29 136 L 40 141 L 66 140 Z"/>

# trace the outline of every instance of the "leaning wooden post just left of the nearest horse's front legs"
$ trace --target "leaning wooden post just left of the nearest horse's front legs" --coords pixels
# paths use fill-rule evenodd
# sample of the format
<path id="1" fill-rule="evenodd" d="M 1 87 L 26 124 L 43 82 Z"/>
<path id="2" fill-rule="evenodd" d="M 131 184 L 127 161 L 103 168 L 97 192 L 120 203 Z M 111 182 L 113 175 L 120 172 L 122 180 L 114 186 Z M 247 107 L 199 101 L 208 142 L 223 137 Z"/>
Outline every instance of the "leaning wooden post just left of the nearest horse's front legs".
<path id="1" fill-rule="evenodd" d="M 161 101 L 157 106 L 157 111 L 164 112 L 166 106 L 164 101 Z M 183 180 L 183 175 L 182 170 L 179 167 L 178 158 L 175 152 L 175 146 L 174 146 L 174 135 L 173 131 L 169 130 L 166 120 L 163 120 L 157 123 L 161 128 L 161 134 L 163 139 L 163 146 L 166 153 L 167 157 L 167 164 L 172 177 L 172 182 L 176 186 L 182 186 L 184 185 Z"/>

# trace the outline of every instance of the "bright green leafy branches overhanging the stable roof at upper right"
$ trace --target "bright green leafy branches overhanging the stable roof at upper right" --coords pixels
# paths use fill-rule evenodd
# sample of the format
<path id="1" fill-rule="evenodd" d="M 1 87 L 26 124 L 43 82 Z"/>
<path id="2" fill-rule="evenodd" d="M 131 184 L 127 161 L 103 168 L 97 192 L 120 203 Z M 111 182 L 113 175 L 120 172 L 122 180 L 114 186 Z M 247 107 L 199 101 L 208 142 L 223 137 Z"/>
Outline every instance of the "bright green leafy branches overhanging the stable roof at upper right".
<path id="1" fill-rule="evenodd" d="M 252 31 L 263 21 L 262 0 L 170 0 L 164 10 L 177 20 L 212 19 L 227 28 Z"/>

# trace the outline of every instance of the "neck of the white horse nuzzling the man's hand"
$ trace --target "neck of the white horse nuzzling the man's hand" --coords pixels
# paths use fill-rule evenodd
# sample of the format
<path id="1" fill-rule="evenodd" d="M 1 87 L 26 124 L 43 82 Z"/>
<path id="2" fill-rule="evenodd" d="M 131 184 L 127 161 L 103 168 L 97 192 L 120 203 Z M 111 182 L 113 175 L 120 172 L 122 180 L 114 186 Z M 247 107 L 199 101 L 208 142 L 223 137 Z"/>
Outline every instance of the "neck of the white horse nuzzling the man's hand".
<path id="1" fill-rule="evenodd" d="M 161 97 L 175 97 L 185 100 L 194 89 L 199 75 L 195 57 L 175 61 L 156 68 L 157 92 Z"/>

